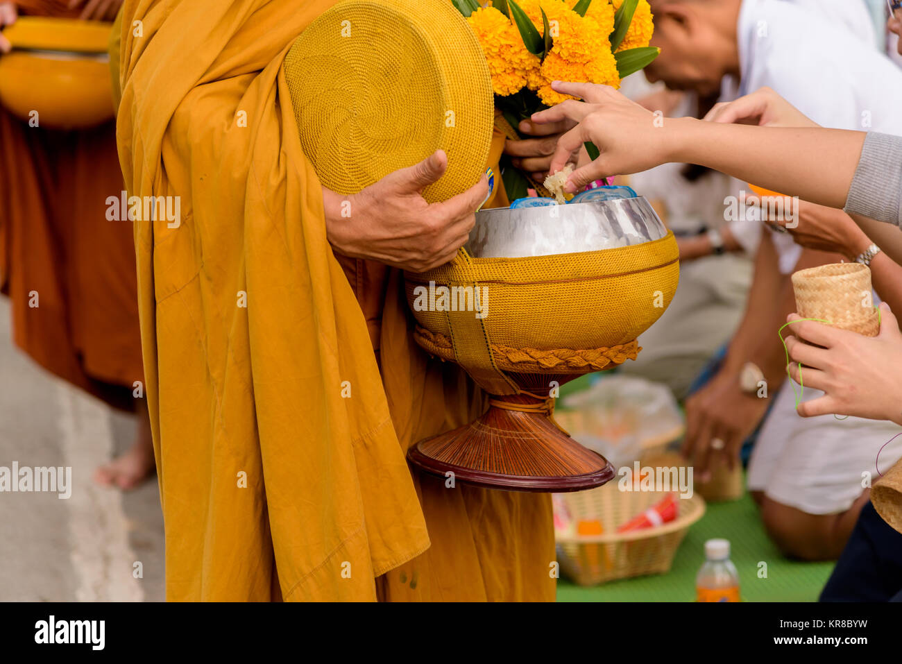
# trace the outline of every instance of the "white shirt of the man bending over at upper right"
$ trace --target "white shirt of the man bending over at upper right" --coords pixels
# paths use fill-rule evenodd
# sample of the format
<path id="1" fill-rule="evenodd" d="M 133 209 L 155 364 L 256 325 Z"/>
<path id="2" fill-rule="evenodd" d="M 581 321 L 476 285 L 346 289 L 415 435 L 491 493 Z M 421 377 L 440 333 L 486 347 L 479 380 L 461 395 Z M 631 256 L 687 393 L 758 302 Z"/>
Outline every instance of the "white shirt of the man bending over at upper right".
<path id="1" fill-rule="evenodd" d="M 825 127 L 902 135 L 902 70 L 865 44 L 861 0 L 743 0 L 737 28 L 741 81 L 724 80 L 722 101 L 769 87 Z M 801 247 L 774 241 L 792 272 Z"/>

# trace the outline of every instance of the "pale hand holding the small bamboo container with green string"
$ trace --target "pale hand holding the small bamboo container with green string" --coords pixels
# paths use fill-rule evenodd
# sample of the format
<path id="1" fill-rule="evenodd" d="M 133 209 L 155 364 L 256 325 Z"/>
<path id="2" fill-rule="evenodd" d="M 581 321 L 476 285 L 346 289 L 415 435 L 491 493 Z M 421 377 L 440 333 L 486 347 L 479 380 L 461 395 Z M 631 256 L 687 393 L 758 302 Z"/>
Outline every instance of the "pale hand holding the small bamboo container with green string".
<path id="1" fill-rule="evenodd" d="M 796 314 L 790 322 L 800 320 Z M 798 404 L 804 418 L 852 415 L 902 424 L 902 333 L 886 302 L 880 304 L 880 333 L 864 337 L 814 320 L 789 326 L 789 376 L 824 396 Z M 801 369 L 799 365 L 801 364 Z"/>

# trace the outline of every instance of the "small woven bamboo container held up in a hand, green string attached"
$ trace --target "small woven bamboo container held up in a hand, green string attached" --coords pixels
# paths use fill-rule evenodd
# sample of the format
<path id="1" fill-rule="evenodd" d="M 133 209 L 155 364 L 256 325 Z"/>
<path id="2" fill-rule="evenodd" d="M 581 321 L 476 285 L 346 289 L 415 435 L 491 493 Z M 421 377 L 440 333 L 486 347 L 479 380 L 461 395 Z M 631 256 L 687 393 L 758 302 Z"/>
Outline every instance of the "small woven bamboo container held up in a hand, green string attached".
<path id="1" fill-rule="evenodd" d="M 833 327 L 876 337 L 877 309 L 871 304 L 870 268 L 861 263 L 831 263 L 792 275 L 801 318 L 829 321 Z"/>

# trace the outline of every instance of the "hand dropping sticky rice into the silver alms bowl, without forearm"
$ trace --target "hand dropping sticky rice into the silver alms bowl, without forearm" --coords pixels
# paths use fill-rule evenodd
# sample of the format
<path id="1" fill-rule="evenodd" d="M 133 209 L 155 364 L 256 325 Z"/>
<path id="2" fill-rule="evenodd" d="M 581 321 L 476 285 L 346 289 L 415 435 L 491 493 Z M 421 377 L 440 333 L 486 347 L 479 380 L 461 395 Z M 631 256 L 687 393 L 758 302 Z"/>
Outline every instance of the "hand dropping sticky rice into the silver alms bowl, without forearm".
<path id="1" fill-rule="evenodd" d="M 600 152 L 598 159 L 570 174 L 566 192 L 575 193 L 594 180 L 647 171 L 670 161 L 669 141 L 665 139 L 671 133 L 660 115 L 609 86 L 556 80 L 551 87 L 583 101 L 568 99 L 532 115 L 535 124 L 562 123 L 569 127 L 557 140 L 548 170 L 556 173 L 564 168 L 583 143 L 594 143 Z"/>

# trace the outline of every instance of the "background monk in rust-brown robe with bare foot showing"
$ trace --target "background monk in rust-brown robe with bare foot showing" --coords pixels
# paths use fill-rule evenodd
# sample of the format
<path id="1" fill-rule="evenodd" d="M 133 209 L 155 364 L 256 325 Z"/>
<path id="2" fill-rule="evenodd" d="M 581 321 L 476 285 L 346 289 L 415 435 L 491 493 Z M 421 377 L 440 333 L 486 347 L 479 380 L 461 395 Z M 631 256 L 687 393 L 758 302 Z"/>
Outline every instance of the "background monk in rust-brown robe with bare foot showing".
<path id="1" fill-rule="evenodd" d="M 0 26 L 15 21 L 16 5 L 24 14 L 112 19 L 121 0 L 0 2 Z M 106 198 L 122 189 L 113 122 L 59 131 L 0 107 L 0 288 L 15 344 L 60 378 L 137 412 L 132 447 L 96 475 L 128 489 L 152 474 L 153 451 L 145 403 L 133 398 L 143 369 L 132 227 L 106 218 Z"/>

